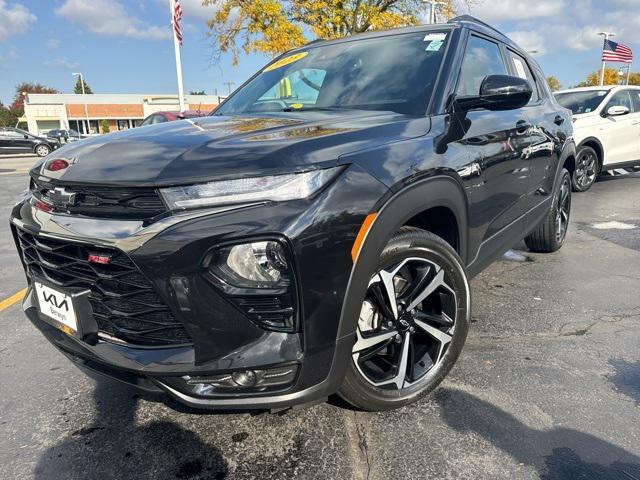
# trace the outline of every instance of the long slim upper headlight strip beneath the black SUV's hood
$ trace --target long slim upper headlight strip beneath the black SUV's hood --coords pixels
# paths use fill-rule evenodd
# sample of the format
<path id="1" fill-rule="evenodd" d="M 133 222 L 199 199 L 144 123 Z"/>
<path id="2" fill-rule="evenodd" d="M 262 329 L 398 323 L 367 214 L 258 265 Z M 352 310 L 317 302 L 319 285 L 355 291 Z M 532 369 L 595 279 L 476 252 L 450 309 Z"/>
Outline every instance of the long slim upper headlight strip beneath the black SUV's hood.
<path id="1" fill-rule="evenodd" d="M 342 167 L 268 177 L 221 180 L 160 189 L 171 210 L 230 205 L 234 203 L 285 201 L 307 198 L 320 190 Z"/>

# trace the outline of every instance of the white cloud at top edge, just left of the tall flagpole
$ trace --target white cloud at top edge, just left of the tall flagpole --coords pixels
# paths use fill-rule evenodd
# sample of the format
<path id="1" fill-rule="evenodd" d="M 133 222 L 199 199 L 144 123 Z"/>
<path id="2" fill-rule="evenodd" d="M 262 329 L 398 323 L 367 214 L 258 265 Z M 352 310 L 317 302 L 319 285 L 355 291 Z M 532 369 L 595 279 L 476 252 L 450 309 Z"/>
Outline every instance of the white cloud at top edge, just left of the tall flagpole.
<path id="1" fill-rule="evenodd" d="M 98 35 L 152 40 L 171 37 L 168 20 L 165 26 L 149 25 L 127 13 L 118 0 L 66 0 L 56 13 Z"/>

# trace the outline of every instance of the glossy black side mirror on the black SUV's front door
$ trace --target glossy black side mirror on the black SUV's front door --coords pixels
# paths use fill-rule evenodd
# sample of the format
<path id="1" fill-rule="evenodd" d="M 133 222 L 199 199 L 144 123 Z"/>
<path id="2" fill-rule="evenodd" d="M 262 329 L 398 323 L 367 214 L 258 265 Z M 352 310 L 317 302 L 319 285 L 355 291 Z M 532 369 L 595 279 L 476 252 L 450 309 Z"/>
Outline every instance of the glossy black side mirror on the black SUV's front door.
<path id="1" fill-rule="evenodd" d="M 464 111 L 474 108 L 487 110 L 515 110 L 531 99 L 533 89 L 528 80 L 510 75 L 488 75 L 482 80 L 478 96 L 457 97 Z"/>

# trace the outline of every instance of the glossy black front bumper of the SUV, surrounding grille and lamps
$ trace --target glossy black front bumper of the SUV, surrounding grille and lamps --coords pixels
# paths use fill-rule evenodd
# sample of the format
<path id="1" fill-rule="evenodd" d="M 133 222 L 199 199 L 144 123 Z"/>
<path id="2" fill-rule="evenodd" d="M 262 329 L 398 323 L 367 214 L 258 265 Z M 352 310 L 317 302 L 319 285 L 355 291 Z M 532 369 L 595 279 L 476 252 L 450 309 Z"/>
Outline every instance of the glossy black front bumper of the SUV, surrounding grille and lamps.
<path id="1" fill-rule="evenodd" d="M 362 219 L 386 192 L 352 166 L 312 200 L 196 211 L 151 225 L 50 214 L 23 202 L 13 210 L 14 229 L 125 253 L 193 342 L 150 348 L 108 336 L 93 342 L 71 337 L 43 320 L 33 289 L 24 310 L 79 366 L 146 390 L 165 391 L 191 406 L 278 409 L 315 402 L 339 388 L 348 365 L 353 335 L 339 337 L 338 327 L 352 268 L 350 250 Z M 291 246 L 300 297 L 295 332 L 256 325 L 207 282 L 202 271 L 202 259 L 216 245 L 265 236 L 283 238 Z M 199 395 L 185 380 L 280 365 L 295 365 L 297 376 L 292 384 L 268 392 Z"/>

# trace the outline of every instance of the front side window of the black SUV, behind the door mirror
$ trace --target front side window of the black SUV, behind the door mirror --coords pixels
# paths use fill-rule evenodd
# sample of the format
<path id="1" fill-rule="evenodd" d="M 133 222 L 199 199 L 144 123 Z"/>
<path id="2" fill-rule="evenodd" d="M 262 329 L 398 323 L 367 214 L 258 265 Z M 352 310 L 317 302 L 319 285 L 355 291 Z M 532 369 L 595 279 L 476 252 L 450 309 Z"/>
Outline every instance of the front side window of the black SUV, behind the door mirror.
<path id="1" fill-rule="evenodd" d="M 506 73 L 498 44 L 472 35 L 464 52 L 457 93 L 478 95 L 484 77 Z"/>

